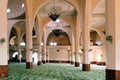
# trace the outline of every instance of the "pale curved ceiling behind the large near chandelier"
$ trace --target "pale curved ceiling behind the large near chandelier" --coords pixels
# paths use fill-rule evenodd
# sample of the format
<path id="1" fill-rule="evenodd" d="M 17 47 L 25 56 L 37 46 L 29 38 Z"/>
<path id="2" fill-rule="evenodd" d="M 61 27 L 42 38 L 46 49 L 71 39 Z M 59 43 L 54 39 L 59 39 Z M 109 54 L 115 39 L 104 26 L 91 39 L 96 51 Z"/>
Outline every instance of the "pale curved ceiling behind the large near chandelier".
<path id="1" fill-rule="evenodd" d="M 64 0 L 51 1 L 51 3 L 46 4 L 39 10 L 41 17 L 48 17 L 48 13 L 56 9 L 56 12 L 60 13 L 61 16 L 74 16 L 76 14 L 76 9 L 71 4 Z"/>

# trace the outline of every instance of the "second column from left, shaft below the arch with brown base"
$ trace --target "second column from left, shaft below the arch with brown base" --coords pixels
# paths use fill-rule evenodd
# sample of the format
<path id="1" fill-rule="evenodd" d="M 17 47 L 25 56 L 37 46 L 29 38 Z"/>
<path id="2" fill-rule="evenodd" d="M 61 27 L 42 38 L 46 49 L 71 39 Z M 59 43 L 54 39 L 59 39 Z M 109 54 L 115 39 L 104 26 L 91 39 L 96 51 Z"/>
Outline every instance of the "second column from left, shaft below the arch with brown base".
<path id="1" fill-rule="evenodd" d="M 32 69 L 32 22 L 27 18 L 26 21 L 26 68 Z"/>

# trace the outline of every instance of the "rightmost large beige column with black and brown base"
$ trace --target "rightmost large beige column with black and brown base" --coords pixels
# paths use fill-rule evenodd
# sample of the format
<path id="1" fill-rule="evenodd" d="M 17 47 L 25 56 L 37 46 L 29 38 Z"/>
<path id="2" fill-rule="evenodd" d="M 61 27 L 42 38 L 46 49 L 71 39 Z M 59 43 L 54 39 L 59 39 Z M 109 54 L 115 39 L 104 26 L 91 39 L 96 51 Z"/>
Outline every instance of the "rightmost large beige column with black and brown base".
<path id="1" fill-rule="evenodd" d="M 120 80 L 120 0 L 106 0 L 106 80 Z"/>

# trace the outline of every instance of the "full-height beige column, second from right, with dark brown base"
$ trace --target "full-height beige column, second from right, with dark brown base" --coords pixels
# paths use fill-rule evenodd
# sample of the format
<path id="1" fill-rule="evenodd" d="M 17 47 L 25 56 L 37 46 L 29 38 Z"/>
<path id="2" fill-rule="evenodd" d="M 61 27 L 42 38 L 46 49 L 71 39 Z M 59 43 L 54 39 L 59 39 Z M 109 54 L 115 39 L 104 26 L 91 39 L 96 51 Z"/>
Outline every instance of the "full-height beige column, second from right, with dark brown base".
<path id="1" fill-rule="evenodd" d="M 91 0 L 81 2 L 82 10 L 82 33 L 83 33 L 83 71 L 90 71 L 90 23 L 91 23 Z"/>

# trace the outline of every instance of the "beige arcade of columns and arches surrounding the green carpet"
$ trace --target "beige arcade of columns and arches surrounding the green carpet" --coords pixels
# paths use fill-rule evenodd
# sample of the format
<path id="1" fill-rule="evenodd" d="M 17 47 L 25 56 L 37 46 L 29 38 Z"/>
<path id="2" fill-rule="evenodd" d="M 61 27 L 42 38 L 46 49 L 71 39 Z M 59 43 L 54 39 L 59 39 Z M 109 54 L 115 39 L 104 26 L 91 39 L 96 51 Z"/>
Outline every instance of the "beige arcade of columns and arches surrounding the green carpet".
<path id="1" fill-rule="evenodd" d="M 0 0 L 0 78 L 10 61 L 32 69 L 70 63 L 83 71 L 106 66 L 106 80 L 120 80 L 120 0 Z M 56 7 L 58 21 L 48 13 Z M 57 34 L 56 34 L 57 32 Z"/>

